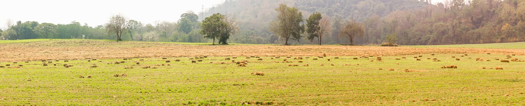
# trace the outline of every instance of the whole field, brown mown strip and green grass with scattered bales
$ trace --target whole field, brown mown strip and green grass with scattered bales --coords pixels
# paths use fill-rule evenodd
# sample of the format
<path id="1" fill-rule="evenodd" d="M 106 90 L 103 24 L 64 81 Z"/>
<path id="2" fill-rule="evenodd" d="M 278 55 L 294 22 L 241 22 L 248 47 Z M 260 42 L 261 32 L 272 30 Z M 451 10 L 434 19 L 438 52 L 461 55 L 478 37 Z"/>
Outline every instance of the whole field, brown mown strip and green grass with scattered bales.
<path id="1" fill-rule="evenodd" d="M 0 105 L 525 105 L 525 50 L 448 47 L 0 42 Z"/>

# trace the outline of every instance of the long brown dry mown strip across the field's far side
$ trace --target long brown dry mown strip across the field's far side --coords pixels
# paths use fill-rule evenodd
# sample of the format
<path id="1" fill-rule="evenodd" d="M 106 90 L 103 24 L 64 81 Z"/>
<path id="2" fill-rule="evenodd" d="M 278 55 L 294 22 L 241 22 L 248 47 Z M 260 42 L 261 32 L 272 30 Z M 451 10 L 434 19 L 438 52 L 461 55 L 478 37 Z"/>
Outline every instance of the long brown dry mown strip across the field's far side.
<path id="1" fill-rule="evenodd" d="M 177 56 L 393 56 L 427 53 L 525 55 L 524 49 L 409 48 L 342 45 L 182 45 L 152 42 L 50 40 L 0 44 L 0 62 Z"/>

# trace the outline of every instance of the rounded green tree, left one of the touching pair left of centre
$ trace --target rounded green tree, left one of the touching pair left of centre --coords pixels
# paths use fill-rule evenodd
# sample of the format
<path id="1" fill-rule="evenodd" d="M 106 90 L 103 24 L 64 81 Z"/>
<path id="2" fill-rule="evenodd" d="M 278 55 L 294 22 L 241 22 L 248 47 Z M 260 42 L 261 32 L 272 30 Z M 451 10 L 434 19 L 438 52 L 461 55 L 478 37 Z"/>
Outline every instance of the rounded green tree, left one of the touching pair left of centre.
<path id="1" fill-rule="evenodd" d="M 222 21 L 224 18 L 224 15 L 220 15 L 219 13 L 213 14 L 212 16 L 206 17 L 204 20 L 202 20 L 201 23 L 201 34 L 204 35 L 204 38 L 212 39 L 213 43 L 212 45 L 215 45 L 215 39 L 219 38 L 220 36 L 220 28 L 223 26 L 226 26 L 226 23 Z"/>

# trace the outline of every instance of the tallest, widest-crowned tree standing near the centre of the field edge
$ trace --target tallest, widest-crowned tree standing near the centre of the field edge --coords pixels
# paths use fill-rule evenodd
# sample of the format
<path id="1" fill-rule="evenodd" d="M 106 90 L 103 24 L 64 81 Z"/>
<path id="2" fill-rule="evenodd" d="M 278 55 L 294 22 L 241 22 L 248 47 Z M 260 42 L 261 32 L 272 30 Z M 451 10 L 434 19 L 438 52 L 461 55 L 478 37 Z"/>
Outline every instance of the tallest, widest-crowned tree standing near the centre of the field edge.
<path id="1" fill-rule="evenodd" d="M 285 45 L 288 45 L 290 38 L 299 41 L 301 34 L 304 33 L 304 25 L 301 25 L 302 12 L 286 4 L 281 4 L 275 10 L 279 15 L 276 20 L 270 22 L 270 31 L 279 34 L 281 39 L 285 40 Z"/>

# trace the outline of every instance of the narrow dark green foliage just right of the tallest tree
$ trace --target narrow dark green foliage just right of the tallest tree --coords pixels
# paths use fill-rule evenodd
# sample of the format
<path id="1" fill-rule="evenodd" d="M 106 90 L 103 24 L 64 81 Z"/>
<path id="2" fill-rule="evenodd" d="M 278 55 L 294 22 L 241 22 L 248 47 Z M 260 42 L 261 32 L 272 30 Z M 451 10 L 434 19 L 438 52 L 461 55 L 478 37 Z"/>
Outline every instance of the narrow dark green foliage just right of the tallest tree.
<path id="1" fill-rule="evenodd" d="M 308 33 L 307 39 L 310 40 L 310 42 L 316 37 L 319 38 L 319 33 L 317 32 L 321 30 L 321 26 L 319 26 L 319 20 L 321 20 L 321 18 L 323 18 L 321 13 L 313 13 L 308 19 L 306 19 L 306 32 Z"/>

